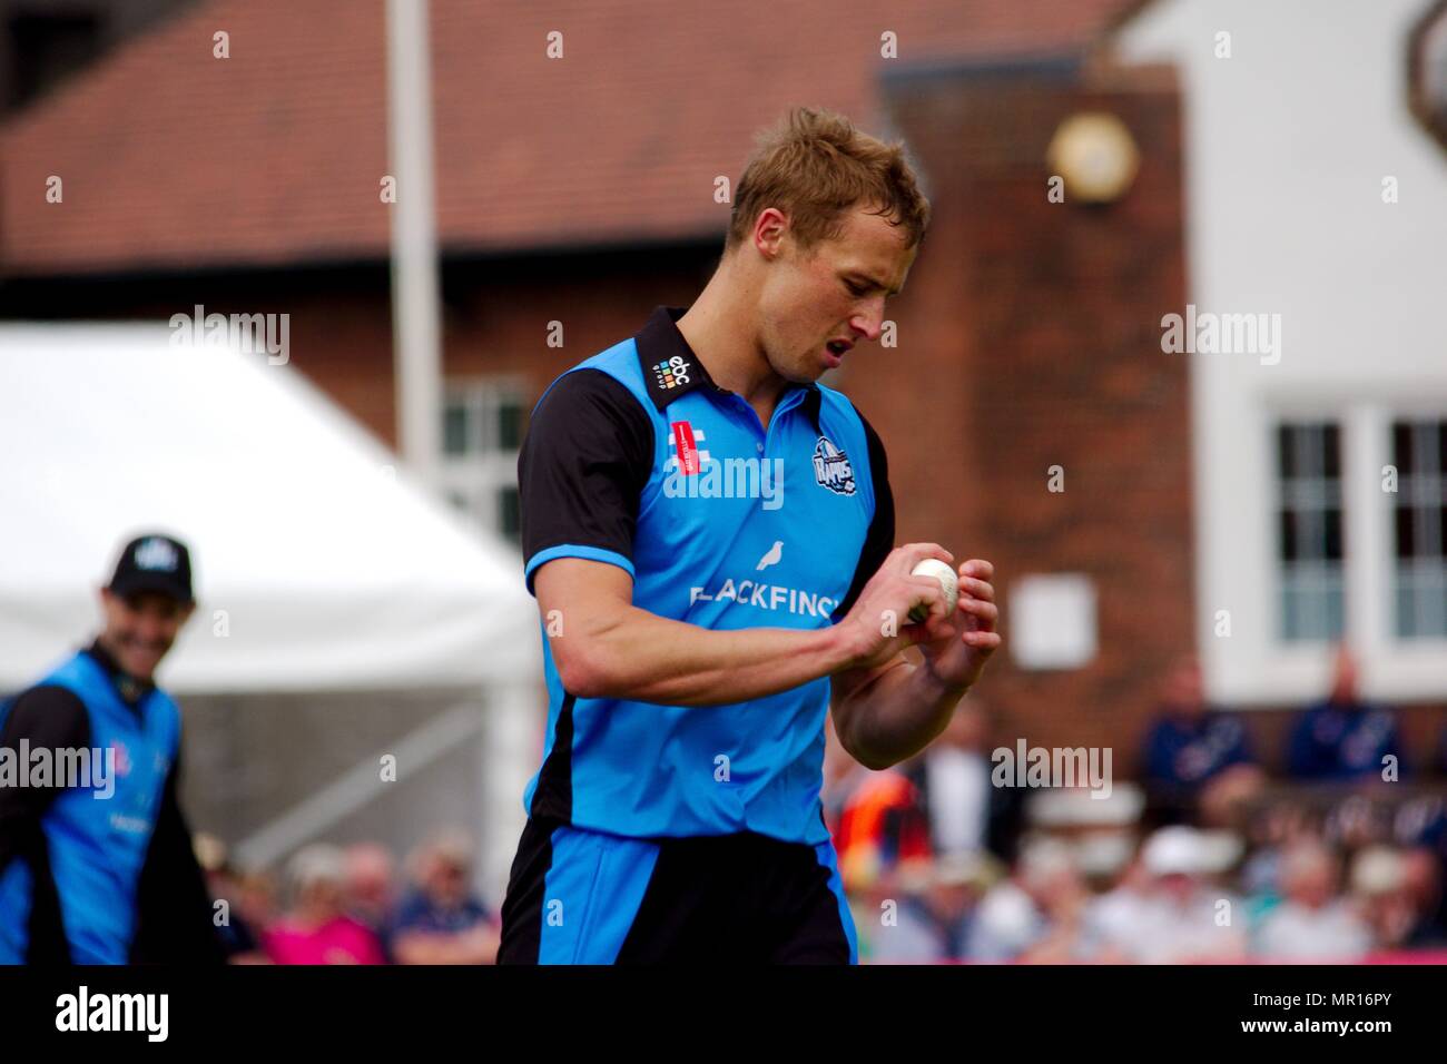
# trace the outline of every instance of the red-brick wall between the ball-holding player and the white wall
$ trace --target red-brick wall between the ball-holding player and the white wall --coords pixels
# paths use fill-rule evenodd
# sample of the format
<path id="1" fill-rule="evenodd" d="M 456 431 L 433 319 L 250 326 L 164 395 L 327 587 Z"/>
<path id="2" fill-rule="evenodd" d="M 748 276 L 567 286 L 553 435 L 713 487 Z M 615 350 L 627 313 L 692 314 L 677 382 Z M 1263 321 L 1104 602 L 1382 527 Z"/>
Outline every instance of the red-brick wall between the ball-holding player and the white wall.
<path id="1" fill-rule="evenodd" d="M 1094 580 L 1097 659 L 1026 672 L 1006 650 L 978 696 L 1003 740 L 1111 746 L 1129 770 L 1162 670 L 1194 646 L 1187 363 L 1158 324 L 1185 301 L 1176 88 L 1159 71 L 994 71 L 899 84 L 894 110 L 936 220 L 900 347 L 848 384 L 890 447 L 900 537 L 991 559 L 1007 640 L 1011 582 Z M 1120 116 L 1140 149 L 1110 206 L 1046 195 L 1049 139 L 1081 110 Z"/>

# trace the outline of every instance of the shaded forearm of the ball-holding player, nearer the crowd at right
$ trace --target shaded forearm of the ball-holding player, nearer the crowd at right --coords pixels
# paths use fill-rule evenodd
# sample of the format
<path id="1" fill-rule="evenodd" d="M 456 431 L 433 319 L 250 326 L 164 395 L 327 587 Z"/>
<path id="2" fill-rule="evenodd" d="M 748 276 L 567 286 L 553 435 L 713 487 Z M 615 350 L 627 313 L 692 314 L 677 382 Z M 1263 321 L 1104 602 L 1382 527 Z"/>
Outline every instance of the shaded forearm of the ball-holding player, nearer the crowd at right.
<path id="1" fill-rule="evenodd" d="M 949 724 L 965 689 L 949 688 L 922 664 L 899 659 L 844 699 L 839 741 L 868 769 L 913 757 Z"/>

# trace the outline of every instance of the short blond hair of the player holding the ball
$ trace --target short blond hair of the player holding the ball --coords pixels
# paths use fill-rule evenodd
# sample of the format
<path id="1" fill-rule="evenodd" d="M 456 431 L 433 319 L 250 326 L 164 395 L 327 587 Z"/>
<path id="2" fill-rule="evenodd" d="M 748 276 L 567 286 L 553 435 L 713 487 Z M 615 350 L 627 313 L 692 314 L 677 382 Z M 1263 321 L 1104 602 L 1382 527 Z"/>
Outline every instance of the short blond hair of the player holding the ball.
<path id="1" fill-rule="evenodd" d="M 758 136 L 738 181 L 724 250 L 748 239 L 758 213 L 768 207 L 789 216 L 794 240 L 807 250 L 836 239 L 845 213 L 857 206 L 903 226 L 909 248 L 919 245 L 929 226 L 929 200 L 903 143 L 884 143 L 842 114 L 796 107 Z"/>

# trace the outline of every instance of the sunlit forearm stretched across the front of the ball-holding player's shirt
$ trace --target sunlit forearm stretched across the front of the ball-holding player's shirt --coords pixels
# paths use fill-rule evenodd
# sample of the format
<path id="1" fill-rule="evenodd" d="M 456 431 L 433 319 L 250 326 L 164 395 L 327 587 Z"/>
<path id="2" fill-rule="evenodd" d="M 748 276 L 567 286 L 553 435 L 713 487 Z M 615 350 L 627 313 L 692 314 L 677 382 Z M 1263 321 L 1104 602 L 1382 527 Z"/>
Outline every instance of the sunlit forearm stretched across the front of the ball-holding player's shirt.
<path id="1" fill-rule="evenodd" d="M 661 705 L 708 706 L 790 691 L 849 664 L 838 625 L 716 631 L 627 608 L 582 633 L 554 636 L 567 691 Z M 580 640 L 577 649 L 560 646 Z"/>

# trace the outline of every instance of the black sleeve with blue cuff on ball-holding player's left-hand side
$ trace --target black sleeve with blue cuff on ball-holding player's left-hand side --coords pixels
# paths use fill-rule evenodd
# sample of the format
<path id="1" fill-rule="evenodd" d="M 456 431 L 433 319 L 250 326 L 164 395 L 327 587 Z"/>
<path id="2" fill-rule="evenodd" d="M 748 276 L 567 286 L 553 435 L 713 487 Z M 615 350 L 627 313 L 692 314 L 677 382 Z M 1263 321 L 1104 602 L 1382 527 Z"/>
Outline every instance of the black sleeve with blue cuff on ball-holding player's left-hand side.
<path id="1" fill-rule="evenodd" d="M 532 411 L 518 455 L 524 578 L 585 557 L 631 576 L 638 499 L 653 470 L 653 421 L 598 369 L 559 378 Z"/>

